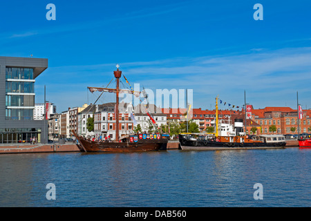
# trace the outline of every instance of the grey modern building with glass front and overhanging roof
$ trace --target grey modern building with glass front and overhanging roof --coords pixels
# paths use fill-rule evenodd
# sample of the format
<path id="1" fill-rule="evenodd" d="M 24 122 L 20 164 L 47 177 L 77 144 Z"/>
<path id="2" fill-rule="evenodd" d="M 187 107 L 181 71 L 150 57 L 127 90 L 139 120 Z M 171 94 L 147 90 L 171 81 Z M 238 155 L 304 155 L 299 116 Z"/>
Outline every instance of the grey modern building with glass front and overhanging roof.
<path id="1" fill-rule="evenodd" d="M 35 79 L 48 59 L 0 57 L 0 144 L 47 142 L 48 124 L 36 121 Z"/>

